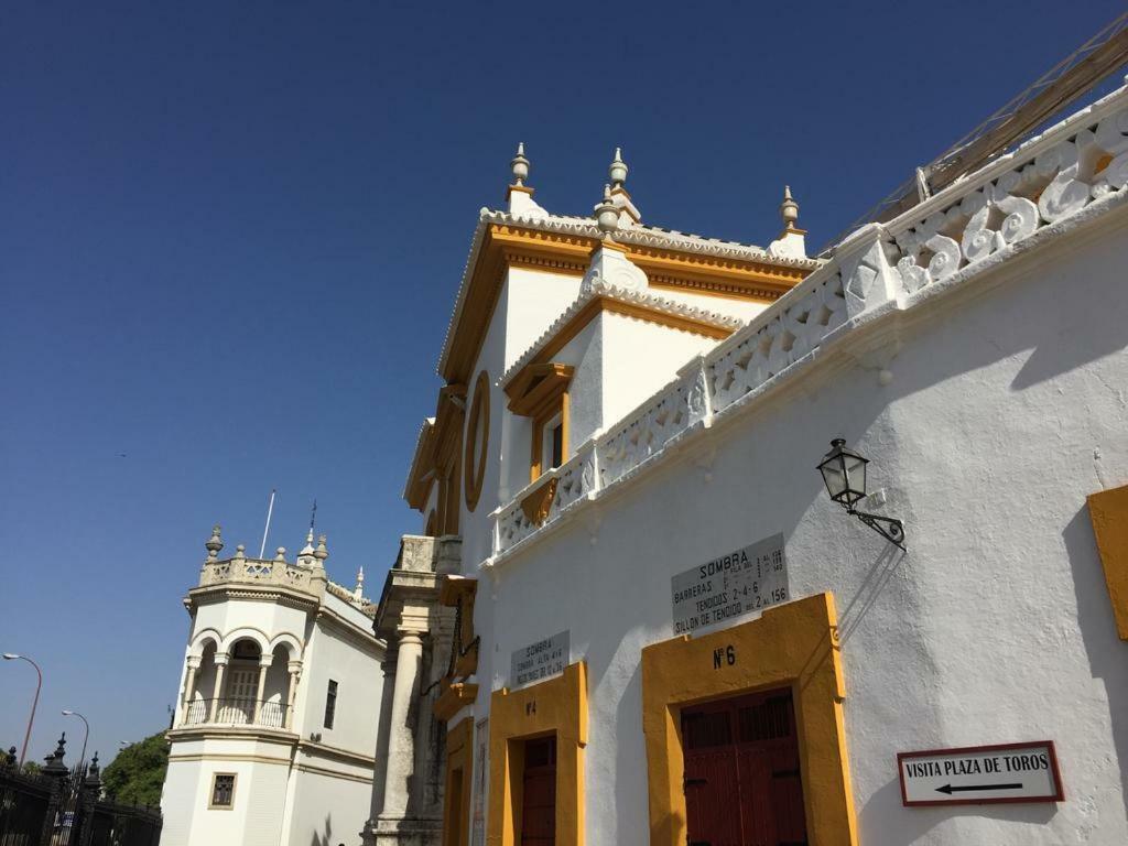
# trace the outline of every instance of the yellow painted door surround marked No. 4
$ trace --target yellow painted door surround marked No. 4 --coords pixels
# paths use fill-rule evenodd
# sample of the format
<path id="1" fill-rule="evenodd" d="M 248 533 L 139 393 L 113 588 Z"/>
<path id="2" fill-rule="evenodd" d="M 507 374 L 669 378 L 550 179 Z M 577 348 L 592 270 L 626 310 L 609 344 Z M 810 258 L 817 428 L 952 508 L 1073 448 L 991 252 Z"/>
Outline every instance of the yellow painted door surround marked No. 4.
<path id="1" fill-rule="evenodd" d="M 583 661 L 564 668 L 564 675 L 555 679 L 494 691 L 487 846 L 519 843 L 525 741 L 549 734 L 556 735 L 556 846 L 582 846 L 583 749 L 588 744 L 588 666 Z"/>

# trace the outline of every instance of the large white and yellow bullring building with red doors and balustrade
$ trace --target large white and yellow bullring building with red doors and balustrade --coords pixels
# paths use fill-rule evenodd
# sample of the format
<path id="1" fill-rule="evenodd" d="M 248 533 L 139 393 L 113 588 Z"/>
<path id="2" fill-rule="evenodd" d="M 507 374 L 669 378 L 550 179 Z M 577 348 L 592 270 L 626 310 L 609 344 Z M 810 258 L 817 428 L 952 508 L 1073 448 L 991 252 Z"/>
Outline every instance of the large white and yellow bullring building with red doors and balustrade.
<path id="1" fill-rule="evenodd" d="M 405 491 L 460 539 L 390 611 L 415 843 L 1128 843 L 1128 91 L 823 259 L 790 193 L 760 249 L 528 173 Z"/>

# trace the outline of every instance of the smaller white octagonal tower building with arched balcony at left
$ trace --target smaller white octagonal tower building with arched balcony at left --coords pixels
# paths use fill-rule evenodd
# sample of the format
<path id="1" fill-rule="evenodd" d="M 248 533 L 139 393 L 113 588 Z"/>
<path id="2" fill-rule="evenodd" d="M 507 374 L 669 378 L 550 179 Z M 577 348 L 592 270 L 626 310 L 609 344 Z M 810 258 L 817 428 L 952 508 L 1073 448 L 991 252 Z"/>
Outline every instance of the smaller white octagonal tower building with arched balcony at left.
<path id="1" fill-rule="evenodd" d="M 161 846 L 358 844 L 367 819 L 385 644 L 376 606 L 328 580 L 325 537 L 296 561 L 220 558 L 219 527 L 192 618 Z"/>

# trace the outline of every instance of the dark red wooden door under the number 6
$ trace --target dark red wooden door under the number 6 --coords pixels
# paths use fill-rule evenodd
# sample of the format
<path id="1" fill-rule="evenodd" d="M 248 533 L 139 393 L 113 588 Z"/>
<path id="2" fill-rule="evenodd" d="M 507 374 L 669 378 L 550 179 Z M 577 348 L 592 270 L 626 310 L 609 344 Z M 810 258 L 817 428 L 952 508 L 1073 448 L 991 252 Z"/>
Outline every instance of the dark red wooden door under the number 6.
<path id="1" fill-rule="evenodd" d="M 689 846 L 804 846 L 790 690 L 681 713 Z"/>

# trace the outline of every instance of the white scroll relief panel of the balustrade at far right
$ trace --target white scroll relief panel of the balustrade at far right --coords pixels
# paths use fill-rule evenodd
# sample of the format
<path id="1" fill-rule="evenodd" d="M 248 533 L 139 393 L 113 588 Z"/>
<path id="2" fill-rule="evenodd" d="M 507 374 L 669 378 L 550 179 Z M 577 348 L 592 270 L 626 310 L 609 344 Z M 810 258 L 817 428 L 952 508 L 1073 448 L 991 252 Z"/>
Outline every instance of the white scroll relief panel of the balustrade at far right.
<path id="1" fill-rule="evenodd" d="M 1128 184 L 1128 109 L 1016 165 L 896 237 L 909 293 Z"/>

